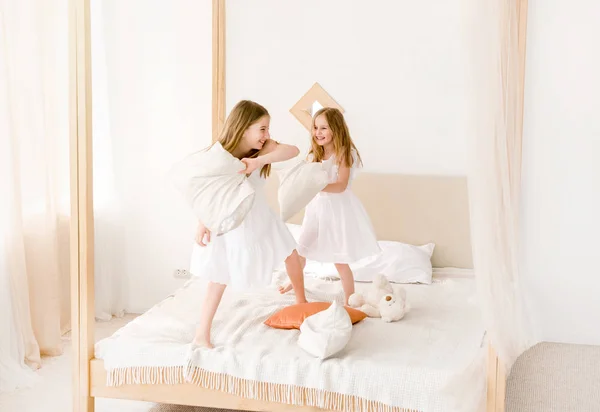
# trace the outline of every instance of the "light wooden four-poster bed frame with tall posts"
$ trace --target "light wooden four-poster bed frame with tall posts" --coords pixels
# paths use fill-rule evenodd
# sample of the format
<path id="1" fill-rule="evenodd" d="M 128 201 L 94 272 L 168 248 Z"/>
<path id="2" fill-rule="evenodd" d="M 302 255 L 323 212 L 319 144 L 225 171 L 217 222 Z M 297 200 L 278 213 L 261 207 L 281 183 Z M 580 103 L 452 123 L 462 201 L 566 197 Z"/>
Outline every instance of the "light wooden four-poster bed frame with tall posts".
<path id="1" fill-rule="evenodd" d="M 519 50 L 525 59 L 527 0 L 519 10 Z M 225 0 L 213 0 L 213 140 L 225 122 Z M 106 386 L 103 362 L 94 359 L 94 219 L 90 0 L 70 0 L 71 320 L 73 411 L 92 412 L 94 397 L 122 398 L 254 411 L 322 411 L 244 399 L 193 384 Z M 524 65 L 523 65 L 524 66 Z M 524 77 L 524 69 L 521 72 Z M 523 96 L 521 96 L 523 99 Z M 521 106 L 522 107 L 522 106 Z M 521 115 L 522 120 L 522 115 Z M 522 121 L 521 121 L 522 127 Z M 487 412 L 504 411 L 506 376 L 492 346 L 487 373 Z"/>

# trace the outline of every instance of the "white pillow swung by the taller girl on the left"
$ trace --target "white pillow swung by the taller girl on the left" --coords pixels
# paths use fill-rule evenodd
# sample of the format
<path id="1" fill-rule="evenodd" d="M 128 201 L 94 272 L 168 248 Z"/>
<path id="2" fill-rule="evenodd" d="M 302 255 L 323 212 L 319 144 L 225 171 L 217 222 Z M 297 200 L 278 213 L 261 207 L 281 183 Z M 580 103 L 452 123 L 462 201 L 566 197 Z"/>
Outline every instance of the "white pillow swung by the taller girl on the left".
<path id="1" fill-rule="evenodd" d="M 169 177 L 194 215 L 219 236 L 238 227 L 254 204 L 246 166 L 219 142 L 173 166 Z"/>

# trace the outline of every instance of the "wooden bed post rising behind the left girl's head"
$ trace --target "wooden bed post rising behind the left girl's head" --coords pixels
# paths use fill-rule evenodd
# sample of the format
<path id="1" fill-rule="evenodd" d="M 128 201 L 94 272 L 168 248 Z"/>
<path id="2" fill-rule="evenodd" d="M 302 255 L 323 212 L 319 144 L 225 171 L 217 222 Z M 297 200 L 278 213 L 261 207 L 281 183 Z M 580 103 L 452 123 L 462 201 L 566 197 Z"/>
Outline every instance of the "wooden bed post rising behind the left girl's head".
<path id="1" fill-rule="evenodd" d="M 215 142 L 225 124 L 225 0 L 213 0 L 212 13 L 212 141 Z"/>

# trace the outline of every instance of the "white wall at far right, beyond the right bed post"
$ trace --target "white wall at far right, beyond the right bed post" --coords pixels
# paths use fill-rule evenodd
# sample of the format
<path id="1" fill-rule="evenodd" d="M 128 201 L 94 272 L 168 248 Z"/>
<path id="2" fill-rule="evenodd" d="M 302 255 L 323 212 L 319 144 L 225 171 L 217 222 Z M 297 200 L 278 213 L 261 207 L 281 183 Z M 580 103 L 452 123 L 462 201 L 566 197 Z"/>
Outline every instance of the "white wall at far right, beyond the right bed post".
<path id="1" fill-rule="evenodd" d="M 541 338 L 600 344 L 600 3 L 530 0 L 523 270 Z"/>

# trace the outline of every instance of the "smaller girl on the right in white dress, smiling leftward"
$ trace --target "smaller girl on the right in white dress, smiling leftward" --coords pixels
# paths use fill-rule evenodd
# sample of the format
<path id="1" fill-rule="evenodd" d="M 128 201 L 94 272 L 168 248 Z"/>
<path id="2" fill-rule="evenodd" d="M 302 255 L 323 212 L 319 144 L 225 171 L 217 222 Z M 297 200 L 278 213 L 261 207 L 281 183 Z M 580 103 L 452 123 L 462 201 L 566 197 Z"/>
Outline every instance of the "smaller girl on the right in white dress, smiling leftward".
<path id="1" fill-rule="evenodd" d="M 330 184 L 306 207 L 298 239 L 298 253 L 306 259 L 335 263 L 348 298 L 354 293 L 350 263 L 381 252 L 369 215 L 352 192 L 352 179 L 361 158 L 352 142 L 342 113 L 326 107 L 313 117 L 311 149 L 313 162 L 332 162 Z M 281 288 L 285 293 L 294 285 Z"/>

